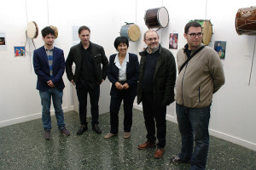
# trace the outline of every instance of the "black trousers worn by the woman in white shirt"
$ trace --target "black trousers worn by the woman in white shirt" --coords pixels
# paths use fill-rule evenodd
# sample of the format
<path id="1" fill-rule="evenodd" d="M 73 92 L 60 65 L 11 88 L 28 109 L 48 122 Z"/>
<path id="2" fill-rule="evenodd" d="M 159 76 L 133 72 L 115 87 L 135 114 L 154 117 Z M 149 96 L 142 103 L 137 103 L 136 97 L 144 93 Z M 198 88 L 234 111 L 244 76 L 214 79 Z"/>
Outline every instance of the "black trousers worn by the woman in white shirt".
<path id="1" fill-rule="evenodd" d="M 124 101 L 124 131 L 131 132 L 132 125 L 132 107 L 135 96 L 127 93 L 126 90 L 120 90 L 117 96 L 112 96 L 110 100 L 110 133 L 116 134 L 119 132 L 119 109 Z"/>

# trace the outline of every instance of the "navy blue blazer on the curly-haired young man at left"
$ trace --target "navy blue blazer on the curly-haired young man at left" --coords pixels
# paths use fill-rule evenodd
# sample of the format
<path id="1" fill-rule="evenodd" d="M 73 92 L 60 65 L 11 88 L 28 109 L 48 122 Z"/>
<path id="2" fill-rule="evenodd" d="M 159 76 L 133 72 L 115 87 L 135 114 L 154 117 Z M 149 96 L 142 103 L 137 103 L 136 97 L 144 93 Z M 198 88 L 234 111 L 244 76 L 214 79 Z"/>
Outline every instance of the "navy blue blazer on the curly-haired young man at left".
<path id="1" fill-rule="evenodd" d="M 49 75 L 49 61 L 48 56 L 45 52 L 44 46 L 38 48 L 33 54 L 33 65 L 36 75 L 38 75 L 37 89 L 40 91 L 46 91 L 50 87 L 47 82 L 51 80 L 56 88 L 61 91 L 65 88 L 62 76 L 65 71 L 65 58 L 63 50 L 60 48 L 53 49 L 53 75 Z"/>

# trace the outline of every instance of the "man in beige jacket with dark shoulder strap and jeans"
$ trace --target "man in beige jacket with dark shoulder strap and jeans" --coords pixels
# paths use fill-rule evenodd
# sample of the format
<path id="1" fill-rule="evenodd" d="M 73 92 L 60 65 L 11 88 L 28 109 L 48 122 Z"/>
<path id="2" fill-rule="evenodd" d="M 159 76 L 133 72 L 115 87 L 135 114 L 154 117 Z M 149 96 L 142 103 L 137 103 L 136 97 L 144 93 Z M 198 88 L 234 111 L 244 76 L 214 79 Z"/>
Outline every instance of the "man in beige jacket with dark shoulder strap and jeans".
<path id="1" fill-rule="evenodd" d="M 176 112 L 182 149 L 171 162 L 191 161 L 190 170 L 199 170 L 206 168 L 212 94 L 224 85 L 224 70 L 214 49 L 202 48 L 202 28 L 198 22 L 189 22 L 183 36 L 188 43 L 177 53 L 179 75 L 176 82 Z"/>

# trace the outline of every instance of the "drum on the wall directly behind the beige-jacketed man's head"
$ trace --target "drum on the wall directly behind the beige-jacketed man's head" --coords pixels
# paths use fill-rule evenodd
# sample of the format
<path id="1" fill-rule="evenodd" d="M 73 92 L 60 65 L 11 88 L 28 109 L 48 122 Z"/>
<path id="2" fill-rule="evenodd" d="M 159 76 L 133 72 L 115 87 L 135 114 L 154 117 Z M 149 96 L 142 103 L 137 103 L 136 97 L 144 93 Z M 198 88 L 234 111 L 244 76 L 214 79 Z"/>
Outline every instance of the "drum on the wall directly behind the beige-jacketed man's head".
<path id="1" fill-rule="evenodd" d="M 211 42 L 212 39 L 212 23 L 210 20 L 190 20 L 190 21 L 196 21 L 199 22 L 199 24 L 202 27 L 202 42 L 206 45 L 208 45 Z"/>

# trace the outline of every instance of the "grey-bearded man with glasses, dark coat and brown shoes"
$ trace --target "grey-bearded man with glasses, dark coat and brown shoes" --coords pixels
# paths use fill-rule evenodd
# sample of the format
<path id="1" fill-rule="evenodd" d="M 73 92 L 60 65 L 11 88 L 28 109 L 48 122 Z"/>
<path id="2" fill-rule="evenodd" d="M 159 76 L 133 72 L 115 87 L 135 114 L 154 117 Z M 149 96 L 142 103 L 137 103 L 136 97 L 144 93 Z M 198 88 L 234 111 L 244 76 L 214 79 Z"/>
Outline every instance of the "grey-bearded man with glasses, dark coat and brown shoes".
<path id="1" fill-rule="evenodd" d="M 176 63 L 172 53 L 160 45 L 156 31 L 146 31 L 144 42 L 148 47 L 139 53 L 141 62 L 137 103 L 143 102 L 147 141 L 137 147 L 145 150 L 157 145 L 154 157 L 160 158 L 164 155 L 166 145 L 166 105 L 174 101 Z M 158 144 L 155 143 L 155 127 Z"/>

